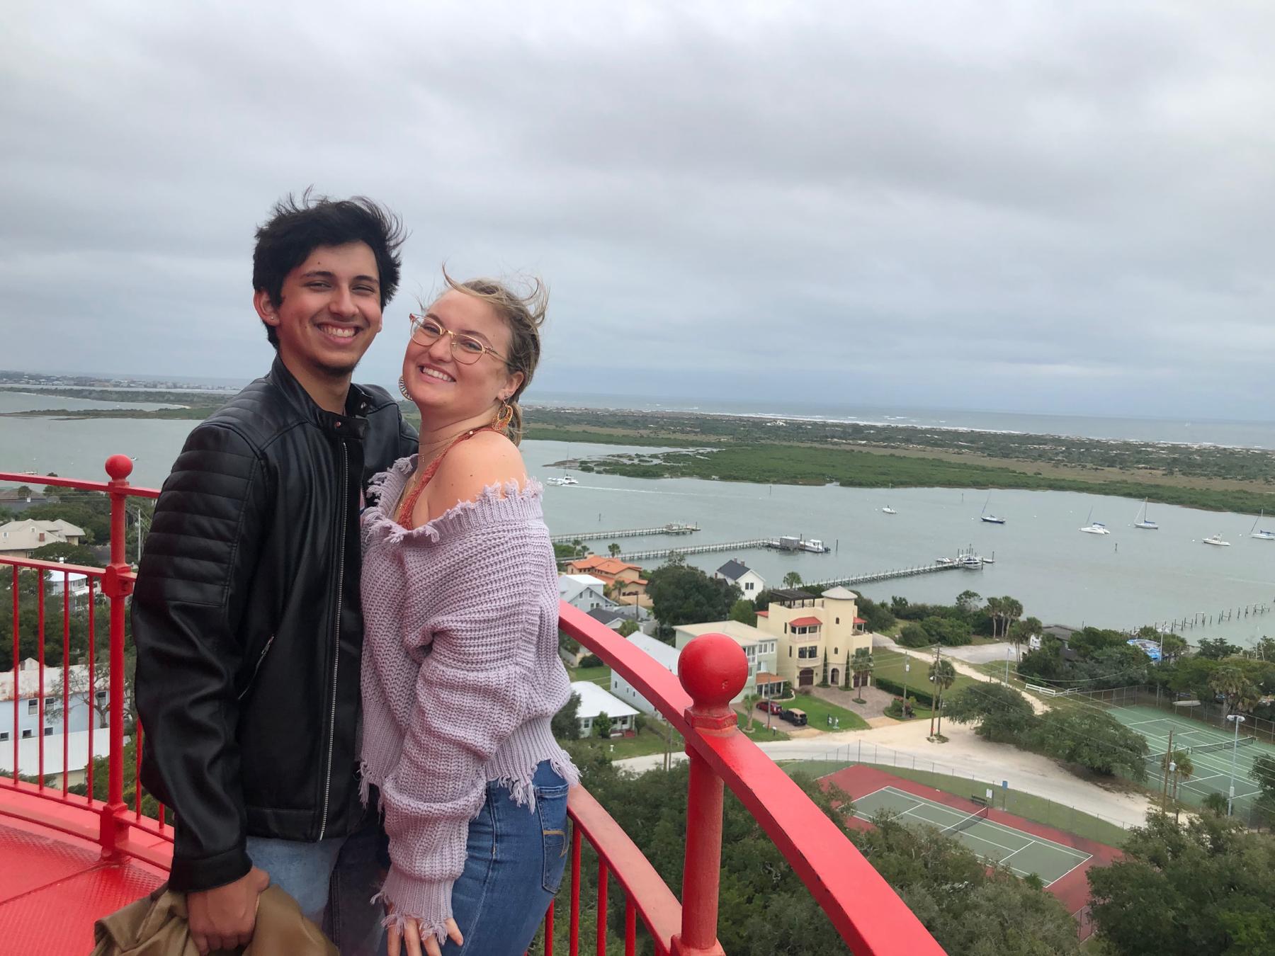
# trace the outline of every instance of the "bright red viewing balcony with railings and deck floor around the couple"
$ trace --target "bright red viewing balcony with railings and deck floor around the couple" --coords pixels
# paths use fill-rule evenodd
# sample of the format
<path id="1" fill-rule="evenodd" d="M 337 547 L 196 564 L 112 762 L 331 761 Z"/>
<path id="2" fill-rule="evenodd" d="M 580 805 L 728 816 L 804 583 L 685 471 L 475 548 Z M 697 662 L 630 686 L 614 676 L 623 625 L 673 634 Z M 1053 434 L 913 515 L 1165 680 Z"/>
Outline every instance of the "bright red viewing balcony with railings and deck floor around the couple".
<path id="1" fill-rule="evenodd" d="M 158 492 L 129 484 L 131 461 L 125 455 L 108 459 L 106 472 L 107 482 L 40 479 L 110 497 L 111 561 L 106 567 L 0 553 L 0 574 L 13 593 L 11 660 L 17 664 L 3 678 L 11 693 L 0 702 L 11 709 L 15 732 L 0 743 L 11 751 L 0 778 L 0 859 L 6 864 L 0 868 L 3 952 L 87 952 L 93 920 L 161 885 L 171 860 L 171 812 L 153 806 L 138 783 L 136 744 L 145 729 L 130 725 L 125 684 L 125 608 L 135 581 L 124 560 L 125 506 L 129 497 L 154 498 Z M 0 482 L 23 481 L 29 475 L 0 473 Z M 19 585 L 38 591 L 38 640 L 26 665 L 19 649 L 24 639 L 29 646 L 33 635 L 24 634 L 29 622 L 19 616 Z M 790 600 L 808 607 L 802 598 Z M 83 665 L 68 668 L 64 678 L 76 603 L 92 609 L 85 614 L 88 655 Z M 98 608 L 108 608 L 108 617 Z M 560 605 L 560 627 L 682 735 L 690 778 L 685 797 L 669 795 L 685 799 L 687 807 L 681 899 L 584 786 L 572 792 L 571 860 L 546 914 L 546 956 L 552 956 L 553 941 L 564 938 L 564 924 L 571 956 L 581 947 L 606 953 L 607 920 L 595 922 L 597 938 L 584 939 L 580 918 L 586 909 L 607 913 L 608 897 L 622 900 L 623 909 L 622 942 L 613 951 L 634 953 L 645 938 L 644 946 L 662 956 L 724 956 L 718 943 L 718 885 L 727 788 L 775 843 L 854 953 L 942 952 L 836 823 L 736 727 L 731 701 L 750 674 L 760 679 L 756 655 L 750 662 L 738 640 L 694 636 L 681 646 L 672 668 L 570 604 Z M 50 663 L 54 659 L 56 667 Z M 766 677 L 778 681 L 775 674 Z M 61 714 L 68 718 L 59 723 Z M 28 723 L 40 733 L 24 743 L 19 734 Z M 46 735 L 46 727 L 59 729 Z M 84 741 L 73 750 L 75 734 Z M 94 769 L 89 758 L 94 753 L 106 756 L 105 774 L 101 764 Z M 78 774 L 83 774 L 82 783 Z M 592 848 L 588 857 L 585 844 Z M 581 880 L 586 859 L 597 868 L 595 880 Z M 583 897 L 584 883 L 594 899 Z"/>

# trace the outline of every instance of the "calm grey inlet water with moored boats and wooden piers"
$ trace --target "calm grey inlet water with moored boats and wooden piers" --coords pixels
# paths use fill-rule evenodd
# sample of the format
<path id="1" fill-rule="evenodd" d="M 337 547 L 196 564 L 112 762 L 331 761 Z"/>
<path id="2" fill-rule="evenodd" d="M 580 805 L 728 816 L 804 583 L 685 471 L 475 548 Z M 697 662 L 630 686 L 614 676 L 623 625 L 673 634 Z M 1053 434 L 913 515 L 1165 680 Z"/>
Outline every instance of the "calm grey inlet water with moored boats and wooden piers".
<path id="1" fill-rule="evenodd" d="M 10 407 L 18 398 L 0 394 L 0 402 L 8 400 Z M 0 418 L 0 470 L 105 479 L 105 460 L 124 453 L 134 458 L 131 481 L 158 487 L 195 424 Z M 523 445 L 529 470 L 541 479 L 557 474 L 551 465 L 562 459 L 623 450 L 543 441 Z M 965 589 L 984 597 L 1009 594 L 1046 623 L 1104 627 L 1139 627 L 1200 613 L 1218 617 L 1275 602 L 1275 542 L 1248 537 L 1252 516 L 1153 506 L 1151 518 L 1160 530 L 1144 532 L 1132 526 L 1140 501 L 997 491 L 989 510 L 1003 515 L 1007 524 L 989 525 L 978 520 L 987 495 L 977 491 L 812 488 L 579 472 L 576 477 L 579 486 L 546 487 L 546 519 L 556 534 L 695 521 L 701 530 L 690 537 L 617 542 L 625 551 L 639 551 L 798 534 L 821 538 L 834 549 L 827 554 L 731 551 L 690 558 L 711 572 L 737 557 L 773 584 L 788 571 L 797 571 L 805 580 L 820 580 L 929 565 L 937 557 L 973 547 L 994 556 L 996 563 L 983 571 L 943 571 L 864 585 L 862 591 L 882 600 L 899 594 L 910 600 L 940 602 L 951 602 Z M 882 512 L 887 505 L 898 514 Z M 1090 520 L 1090 512 L 1091 520 L 1104 521 L 1113 533 L 1081 534 L 1079 529 Z M 1202 544 L 1215 533 L 1232 547 Z M 590 547 L 606 553 L 608 543 L 595 540 Z M 653 567 L 659 560 L 644 563 Z M 1241 614 L 1184 634 L 1192 641 L 1224 636 L 1247 644 L 1275 634 L 1275 612 Z"/>

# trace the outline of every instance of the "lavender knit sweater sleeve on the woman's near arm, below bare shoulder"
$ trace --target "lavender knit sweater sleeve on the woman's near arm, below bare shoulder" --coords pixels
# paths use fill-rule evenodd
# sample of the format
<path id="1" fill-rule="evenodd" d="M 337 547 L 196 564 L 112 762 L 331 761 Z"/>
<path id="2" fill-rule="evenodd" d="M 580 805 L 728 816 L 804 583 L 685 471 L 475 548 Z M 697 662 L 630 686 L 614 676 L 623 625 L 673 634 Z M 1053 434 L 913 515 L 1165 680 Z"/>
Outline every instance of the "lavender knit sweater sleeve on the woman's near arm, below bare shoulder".
<path id="1" fill-rule="evenodd" d="M 543 523 L 469 529 L 433 547 L 431 580 L 408 570 L 408 619 L 427 621 L 428 632 L 404 635 L 412 656 L 425 656 L 381 792 L 391 859 L 382 896 L 394 919 L 423 920 L 441 942 L 484 767 L 527 719 L 537 635 L 556 617 L 557 590 Z"/>

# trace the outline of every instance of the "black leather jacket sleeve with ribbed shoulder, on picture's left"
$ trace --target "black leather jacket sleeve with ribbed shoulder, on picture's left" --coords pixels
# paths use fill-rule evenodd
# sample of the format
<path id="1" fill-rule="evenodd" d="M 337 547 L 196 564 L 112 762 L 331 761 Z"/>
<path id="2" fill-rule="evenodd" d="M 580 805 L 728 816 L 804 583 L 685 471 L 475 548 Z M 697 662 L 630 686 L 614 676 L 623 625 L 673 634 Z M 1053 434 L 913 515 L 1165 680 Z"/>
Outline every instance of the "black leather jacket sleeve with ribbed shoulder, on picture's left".
<path id="1" fill-rule="evenodd" d="M 238 432 L 195 428 L 156 503 L 133 597 L 142 779 L 177 813 L 170 883 L 186 892 L 232 882 L 251 865 L 235 681 L 269 484 Z"/>

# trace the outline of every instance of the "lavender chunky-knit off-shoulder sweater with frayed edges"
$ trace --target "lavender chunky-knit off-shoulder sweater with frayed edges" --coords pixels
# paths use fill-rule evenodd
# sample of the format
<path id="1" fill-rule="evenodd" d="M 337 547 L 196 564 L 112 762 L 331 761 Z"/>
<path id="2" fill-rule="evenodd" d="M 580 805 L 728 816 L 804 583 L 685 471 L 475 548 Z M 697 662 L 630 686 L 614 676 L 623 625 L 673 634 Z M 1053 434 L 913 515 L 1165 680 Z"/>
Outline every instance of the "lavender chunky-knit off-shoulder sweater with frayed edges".
<path id="1" fill-rule="evenodd" d="M 534 811 L 548 760 L 578 774 L 550 719 L 570 696 L 557 655 L 558 591 L 542 488 L 491 486 L 407 530 L 393 519 L 416 458 L 377 475 L 362 518 L 362 775 L 380 788 L 394 919 L 441 942 L 469 821 L 488 781 Z"/>

